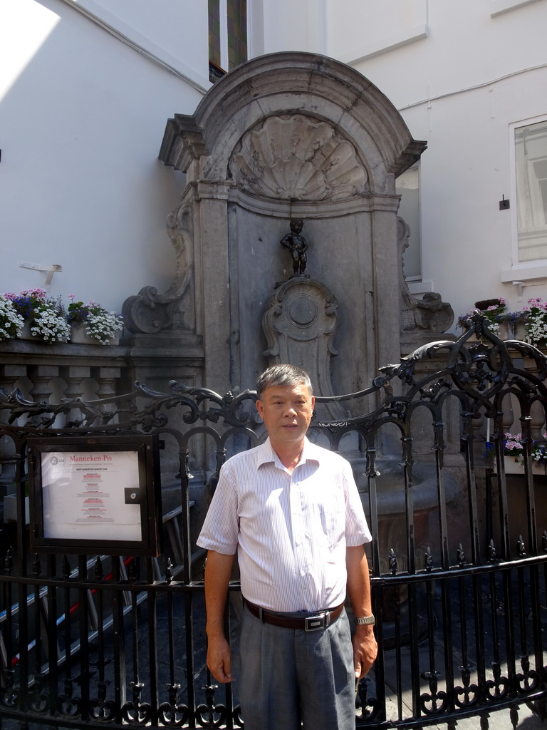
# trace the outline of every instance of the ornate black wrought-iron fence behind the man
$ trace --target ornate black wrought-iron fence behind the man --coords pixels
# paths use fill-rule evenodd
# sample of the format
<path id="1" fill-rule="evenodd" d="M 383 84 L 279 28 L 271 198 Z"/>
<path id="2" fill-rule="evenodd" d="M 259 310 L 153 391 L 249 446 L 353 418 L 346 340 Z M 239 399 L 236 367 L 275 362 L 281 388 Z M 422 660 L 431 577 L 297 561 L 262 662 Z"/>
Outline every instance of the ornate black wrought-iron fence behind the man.
<path id="1" fill-rule="evenodd" d="M 373 533 L 381 651 L 357 691 L 357 727 L 454 727 L 480 715 L 487 728 L 504 707 L 516 724 L 523 703 L 545 714 L 547 476 L 533 456 L 547 359 L 483 323 L 479 315 L 458 342 L 422 347 L 381 369 L 371 388 L 330 399 L 346 414 L 336 423 L 320 420 L 319 399 L 310 437 L 352 462 Z M 138 385 L 56 404 L 0 391 L 0 481 L 11 493 L 0 533 L 4 723 L 244 723 L 237 680 L 218 688 L 206 669 L 195 537 L 225 458 L 265 434 L 255 393 L 166 391 Z M 516 423 L 519 458 L 506 461 L 505 431 L 513 424 L 516 436 Z M 163 553 L 31 553 L 28 439 L 135 433 L 158 434 L 163 447 Z M 237 580 L 230 591 L 236 649 Z"/>

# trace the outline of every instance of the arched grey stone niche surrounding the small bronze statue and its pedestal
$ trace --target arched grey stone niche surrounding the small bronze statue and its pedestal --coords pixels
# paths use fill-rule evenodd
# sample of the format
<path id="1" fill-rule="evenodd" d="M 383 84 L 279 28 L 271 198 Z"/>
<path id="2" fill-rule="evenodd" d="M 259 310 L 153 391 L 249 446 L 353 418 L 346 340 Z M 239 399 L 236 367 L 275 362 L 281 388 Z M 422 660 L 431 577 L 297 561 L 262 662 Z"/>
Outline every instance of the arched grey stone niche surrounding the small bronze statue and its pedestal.
<path id="1" fill-rule="evenodd" d="M 425 147 L 376 86 L 331 58 L 276 53 L 226 74 L 193 115 L 168 120 L 160 159 L 187 176 L 168 223 L 176 280 L 126 302 L 136 341 L 150 327 L 195 337 L 203 385 L 253 388 L 272 359 L 263 316 L 292 277 L 280 241 L 302 218 L 306 276 L 338 318 L 323 392 L 368 387 L 400 357 L 395 178 Z"/>

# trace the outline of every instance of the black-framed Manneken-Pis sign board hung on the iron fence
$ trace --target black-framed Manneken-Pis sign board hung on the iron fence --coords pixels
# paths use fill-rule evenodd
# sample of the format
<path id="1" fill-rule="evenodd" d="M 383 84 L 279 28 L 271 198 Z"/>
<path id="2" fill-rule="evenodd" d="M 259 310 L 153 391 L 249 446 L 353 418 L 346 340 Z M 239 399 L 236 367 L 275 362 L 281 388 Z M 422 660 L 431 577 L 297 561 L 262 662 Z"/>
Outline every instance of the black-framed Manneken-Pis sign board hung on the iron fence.
<path id="1" fill-rule="evenodd" d="M 31 550 L 158 556 L 155 436 L 28 439 Z"/>

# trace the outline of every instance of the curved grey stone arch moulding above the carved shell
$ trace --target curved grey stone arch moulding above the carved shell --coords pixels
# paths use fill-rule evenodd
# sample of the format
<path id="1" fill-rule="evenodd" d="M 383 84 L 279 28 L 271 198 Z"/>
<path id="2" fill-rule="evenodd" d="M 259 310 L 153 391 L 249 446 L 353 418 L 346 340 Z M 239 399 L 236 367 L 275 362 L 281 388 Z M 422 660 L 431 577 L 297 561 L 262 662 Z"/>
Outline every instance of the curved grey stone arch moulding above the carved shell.
<path id="1" fill-rule="evenodd" d="M 322 55 L 284 52 L 242 64 L 206 93 L 195 114 L 169 120 L 160 159 L 190 179 L 225 180 L 244 134 L 265 118 L 295 113 L 331 123 L 359 150 L 371 193 L 394 193 L 397 174 L 425 147 L 355 69 Z"/>

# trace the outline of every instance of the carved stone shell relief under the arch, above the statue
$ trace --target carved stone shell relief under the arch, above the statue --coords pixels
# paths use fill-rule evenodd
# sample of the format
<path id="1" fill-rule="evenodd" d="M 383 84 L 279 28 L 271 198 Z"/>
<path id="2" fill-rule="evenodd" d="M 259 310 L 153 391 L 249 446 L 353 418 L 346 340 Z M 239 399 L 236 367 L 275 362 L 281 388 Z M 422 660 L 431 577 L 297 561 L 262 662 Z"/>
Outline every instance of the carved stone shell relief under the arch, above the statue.
<path id="1" fill-rule="evenodd" d="M 303 114 L 268 117 L 233 151 L 230 173 L 247 193 L 301 201 L 367 193 L 368 175 L 355 148 L 335 128 Z"/>

